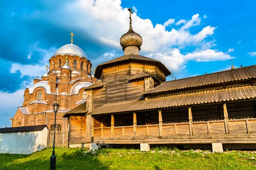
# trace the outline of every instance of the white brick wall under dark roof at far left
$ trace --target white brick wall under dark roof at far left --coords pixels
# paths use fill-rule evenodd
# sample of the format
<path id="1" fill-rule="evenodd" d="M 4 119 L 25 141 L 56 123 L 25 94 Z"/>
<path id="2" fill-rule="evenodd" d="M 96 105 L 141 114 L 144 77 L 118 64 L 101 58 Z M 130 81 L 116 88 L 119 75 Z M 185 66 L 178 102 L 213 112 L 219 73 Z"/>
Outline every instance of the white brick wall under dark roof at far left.
<path id="1" fill-rule="evenodd" d="M 0 133 L 0 153 L 31 154 L 47 147 L 48 129 Z"/>

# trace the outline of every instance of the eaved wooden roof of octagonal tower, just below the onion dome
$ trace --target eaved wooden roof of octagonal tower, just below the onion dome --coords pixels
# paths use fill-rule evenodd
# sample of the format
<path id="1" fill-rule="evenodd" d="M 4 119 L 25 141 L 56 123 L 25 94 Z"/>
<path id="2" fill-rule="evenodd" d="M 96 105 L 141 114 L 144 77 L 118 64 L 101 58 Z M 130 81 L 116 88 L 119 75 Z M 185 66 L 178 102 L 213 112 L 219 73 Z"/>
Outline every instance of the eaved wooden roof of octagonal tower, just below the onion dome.
<path id="1" fill-rule="evenodd" d="M 167 69 L 167 67 L 161 63 L 160 61 L 157 61 L 157 60 L 154 60 L 152 58 L 147 58 L 147 57 L 144 57 L 142 55 L 135 55 L 135 54 L 129 54 L 129 55 L 123 55 L 119 58 L 115 58 L 111 61 L 107 61 L 105 63 L 101 63 L 99 64 L 97 67 L 96 67 L 96 70 L 95 70 L 95 74 L 94 76 L 96 78 L 99 78 L 99 74 L 100 74 L 100 70 L 102 69 L 102 66 L 105 66 L 105 65 L 109 65 L 109 64 L 113 64 L 113 63 L 117 63 L 117 62 L 120 62 L 120 61 L 128 61 L 128 60 L 138 60 L 138 61 L 148 61 L 148 62 L 155 62 L 157 63 L 158 65 L 160 65 L 163 70 L 165 71 L 166 73 L 166 76 L 168 75 L 171 75 L 172 73 L 169 71 L 169 69 Z"/>

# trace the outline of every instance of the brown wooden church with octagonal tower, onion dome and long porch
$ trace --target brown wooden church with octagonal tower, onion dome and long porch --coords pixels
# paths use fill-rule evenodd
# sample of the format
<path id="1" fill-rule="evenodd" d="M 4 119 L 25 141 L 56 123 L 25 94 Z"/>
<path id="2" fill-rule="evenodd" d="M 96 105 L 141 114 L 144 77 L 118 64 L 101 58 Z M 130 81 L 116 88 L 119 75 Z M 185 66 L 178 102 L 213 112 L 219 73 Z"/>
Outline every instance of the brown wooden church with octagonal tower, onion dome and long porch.
<path id="1" fill-rule="evenodd" d="M 64 115 L 69 147 L 255 148 L 256 65 L 166 81 L 171 72 L 141 56 L 142 43 L 130 10 L 124 55 L 99 64 L 87 101 Z"/>

